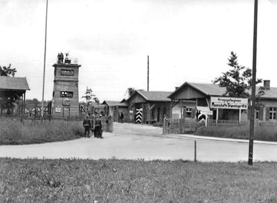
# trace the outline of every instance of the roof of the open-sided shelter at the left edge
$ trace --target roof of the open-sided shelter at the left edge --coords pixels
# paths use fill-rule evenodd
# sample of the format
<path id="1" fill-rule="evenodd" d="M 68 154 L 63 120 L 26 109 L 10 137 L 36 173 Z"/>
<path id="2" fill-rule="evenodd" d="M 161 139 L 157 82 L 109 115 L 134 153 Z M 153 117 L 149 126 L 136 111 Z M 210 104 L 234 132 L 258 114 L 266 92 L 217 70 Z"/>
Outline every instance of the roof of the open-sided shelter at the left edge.
<path id="1" fill-rule="evenodd" d="M 30 90 L 26 78 L 0 77 L 0 89 Z"/>

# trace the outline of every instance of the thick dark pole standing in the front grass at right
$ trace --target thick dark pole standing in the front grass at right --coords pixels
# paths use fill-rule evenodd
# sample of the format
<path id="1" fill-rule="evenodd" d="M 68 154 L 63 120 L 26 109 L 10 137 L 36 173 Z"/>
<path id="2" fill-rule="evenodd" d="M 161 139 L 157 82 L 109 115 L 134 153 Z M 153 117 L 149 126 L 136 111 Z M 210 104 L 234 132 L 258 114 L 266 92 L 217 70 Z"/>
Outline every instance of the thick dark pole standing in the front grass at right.
<path id="1" fill-rule="evenodd" d="M 257 59 L 257 18 L 258 0 L 254 3 L 254 36 L 253 36 L 253 63 L 252 63 L 252 95 L 251 95 L 251 117 L 249 134 L 249 156 L 248 164 L 253 165 L 254 125 L 255 125 L 255 94 L 256 94 L 256 59 Z"/>

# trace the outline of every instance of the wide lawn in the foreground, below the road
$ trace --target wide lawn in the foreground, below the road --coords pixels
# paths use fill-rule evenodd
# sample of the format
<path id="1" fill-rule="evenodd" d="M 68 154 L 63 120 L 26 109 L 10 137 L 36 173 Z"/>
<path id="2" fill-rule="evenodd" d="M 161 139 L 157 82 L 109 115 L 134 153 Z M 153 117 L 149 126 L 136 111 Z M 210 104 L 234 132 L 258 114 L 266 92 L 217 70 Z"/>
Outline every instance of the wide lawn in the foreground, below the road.
<path id="1" fill-rule="evenodd" d="M 0 159 L 0 202 L 277 202 L 277 163 Z"/>

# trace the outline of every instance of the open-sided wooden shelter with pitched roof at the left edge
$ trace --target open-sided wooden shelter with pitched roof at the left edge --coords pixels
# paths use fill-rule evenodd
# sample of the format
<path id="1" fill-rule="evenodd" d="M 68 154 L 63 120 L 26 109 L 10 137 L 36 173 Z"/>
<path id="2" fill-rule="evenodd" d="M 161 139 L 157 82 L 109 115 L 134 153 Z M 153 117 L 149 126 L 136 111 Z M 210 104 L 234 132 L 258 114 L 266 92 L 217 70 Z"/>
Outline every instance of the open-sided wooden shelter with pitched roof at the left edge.
<path id="1" fill-rule="evenodd" d="M 25 93 L 30 90 L 26 78 L 18 77 L 0 77 L 0 99 L 9 98 L 17 104 L 17 115 L 23 115 L 25 112 Z M 1 106 L 0 106 L 1 108 Z M 1 114 L 3 109 L 1 108 Z M 13 114 L 12 112 L 9 112 Z"/>

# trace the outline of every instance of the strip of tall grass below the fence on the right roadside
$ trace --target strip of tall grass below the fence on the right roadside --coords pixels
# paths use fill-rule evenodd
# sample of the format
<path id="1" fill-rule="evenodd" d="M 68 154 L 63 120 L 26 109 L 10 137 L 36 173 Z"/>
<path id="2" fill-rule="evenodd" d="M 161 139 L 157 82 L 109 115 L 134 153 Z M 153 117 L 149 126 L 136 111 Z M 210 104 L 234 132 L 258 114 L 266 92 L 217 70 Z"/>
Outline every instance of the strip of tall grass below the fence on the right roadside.
<path id="1" fill-rule="evenodd" d="M 194 134 L 219 138 L 249 139 L 249 126 L 208 126 L 200 127 Z M 255 126 L 255 140 L 277 141 L 277 128 Z"/>

